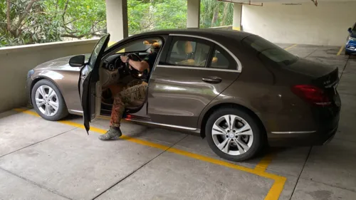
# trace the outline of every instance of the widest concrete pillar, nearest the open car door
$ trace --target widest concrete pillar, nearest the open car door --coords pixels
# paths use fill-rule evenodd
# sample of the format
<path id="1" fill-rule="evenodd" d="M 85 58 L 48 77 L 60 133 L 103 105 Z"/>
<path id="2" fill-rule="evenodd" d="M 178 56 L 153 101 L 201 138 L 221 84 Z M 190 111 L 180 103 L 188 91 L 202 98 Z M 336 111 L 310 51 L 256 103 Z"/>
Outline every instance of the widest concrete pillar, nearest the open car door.
<path id="1" fill-rule="evenodd" d="M 127 0 L 106 1 L 106 26 L 110 41 L 117 42 L 129 36 L 127 23 Z"/>

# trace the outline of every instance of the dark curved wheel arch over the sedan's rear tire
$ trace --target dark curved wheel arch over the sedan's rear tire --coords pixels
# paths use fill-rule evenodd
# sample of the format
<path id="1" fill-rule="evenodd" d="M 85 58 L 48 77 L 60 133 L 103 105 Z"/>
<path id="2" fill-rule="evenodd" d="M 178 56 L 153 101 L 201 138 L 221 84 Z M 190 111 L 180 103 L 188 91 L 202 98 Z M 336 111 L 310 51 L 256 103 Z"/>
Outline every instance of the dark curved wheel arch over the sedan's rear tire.
<path id="1" fill-rule="evenodd" d="M 214 112 L 215 110 L 221 109 L 222 107 L 235 107 L 235 108 L 239 108 L 241 110 L 244 110 L 245 112 L 247 112 L 249 115 L 251 115 L 253 118 L 256 119 L 256 121 L 258 122 L 258 126 L 261 127 L 261 130 L 264 132 L 264 135 L 266 136 L 266 127 L 265 125 L 263 125 L 262 120 L 260 119 L 260 117 L 258 117 L 258 115 L 256 114 L 256 112 L 253 112 L 253 110 L 249 109 L 248 107 L 244 106 L 244 105 L 240 105 L 236 102 L 222 102 L 220 104 L 217 105 L 213 105 L 209 108 L 209 110 L 207 110 L 204 113 L 204 116 L 201 119 L 200 125 L 199 127 L 200 129 L 200 136 L 201 138 L 205 137 L 205 125 L 206 125 L 206 121 L 209 119 L 209 116 L 211 115 L 212 112 Z"/>

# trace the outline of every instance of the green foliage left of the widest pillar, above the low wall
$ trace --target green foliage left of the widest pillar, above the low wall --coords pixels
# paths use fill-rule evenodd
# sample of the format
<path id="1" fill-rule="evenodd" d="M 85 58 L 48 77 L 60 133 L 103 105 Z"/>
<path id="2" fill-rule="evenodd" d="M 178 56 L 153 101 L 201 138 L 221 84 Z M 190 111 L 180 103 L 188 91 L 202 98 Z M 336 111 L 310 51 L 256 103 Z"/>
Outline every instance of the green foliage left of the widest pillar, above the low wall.
<path id="1" fill-rule="evenodd" d="M 101 36 L 105 0 L 0 0 L 0 28 L 0 46 Z"/>

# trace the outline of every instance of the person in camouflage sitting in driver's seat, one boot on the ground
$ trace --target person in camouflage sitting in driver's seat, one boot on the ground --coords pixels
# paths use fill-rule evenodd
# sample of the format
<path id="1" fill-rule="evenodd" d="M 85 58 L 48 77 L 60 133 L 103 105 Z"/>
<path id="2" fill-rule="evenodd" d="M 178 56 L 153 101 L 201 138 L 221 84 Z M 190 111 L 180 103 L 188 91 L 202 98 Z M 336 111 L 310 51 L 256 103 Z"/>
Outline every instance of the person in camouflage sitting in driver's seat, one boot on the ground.
<path id="1" fill-rule="evenodd" d="M 142 61 L 130 60 L 127 56 L 121 56 L 120 58 L 123 63 L 129 63 L 132 68 L 135 68 L 140 72 L 147 70 L 147 77 L 149 78 L 150 72 L 155 64 L 158 51 L 159 43 L 153 43 L 152 52 Z M 148 83 L 146 81 L 133 80 L 125 85 L 120 93 L 115 95 L 114 102 L 112 104 L 110 129 L 105 133 L 105 135 L 100 135 L 100 140 L 115 140 L 122 135 L 120 130 L 120 121 L 122 119 L 122 115 L 124 114 L 125 106 L 130 105 L 130 103 L 134 100 L 145 100 L 148 88 Z"/>

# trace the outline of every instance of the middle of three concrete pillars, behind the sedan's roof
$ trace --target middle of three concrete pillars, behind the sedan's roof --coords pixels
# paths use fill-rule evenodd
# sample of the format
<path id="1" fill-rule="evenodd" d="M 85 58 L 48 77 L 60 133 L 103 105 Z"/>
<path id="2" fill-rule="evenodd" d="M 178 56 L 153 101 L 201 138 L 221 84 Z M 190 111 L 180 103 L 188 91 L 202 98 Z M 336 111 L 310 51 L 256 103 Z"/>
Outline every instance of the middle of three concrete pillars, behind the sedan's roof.
<path id="1" fill-rule="evenodd" d="M 187 1 L 187 28 L 199 28 L 200 0 Z"/>

